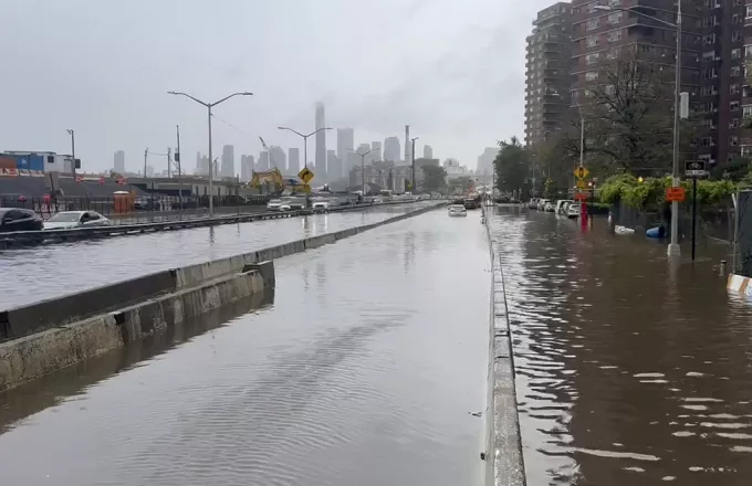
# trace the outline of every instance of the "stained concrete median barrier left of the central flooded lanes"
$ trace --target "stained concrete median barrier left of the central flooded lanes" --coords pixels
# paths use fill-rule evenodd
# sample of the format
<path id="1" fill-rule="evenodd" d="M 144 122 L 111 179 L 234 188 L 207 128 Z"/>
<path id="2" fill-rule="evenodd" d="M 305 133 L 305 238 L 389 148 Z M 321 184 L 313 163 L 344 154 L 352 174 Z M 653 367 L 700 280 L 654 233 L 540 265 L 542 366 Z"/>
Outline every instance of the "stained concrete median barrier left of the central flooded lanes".
<path id="1" fill-rule="evenodd" d="M 273 260 L 421 214 L 157 272 L 0 313 L 0 391 L 160 332 L 275 286 Z"/>

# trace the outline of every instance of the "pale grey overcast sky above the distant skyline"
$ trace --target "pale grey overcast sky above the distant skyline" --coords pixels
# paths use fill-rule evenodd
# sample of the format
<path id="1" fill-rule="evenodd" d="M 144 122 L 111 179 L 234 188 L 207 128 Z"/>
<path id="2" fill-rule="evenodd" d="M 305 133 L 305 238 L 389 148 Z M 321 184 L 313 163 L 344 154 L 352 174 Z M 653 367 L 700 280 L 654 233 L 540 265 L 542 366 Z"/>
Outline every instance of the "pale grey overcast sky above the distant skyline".
<path id="1" fill-rule="evenodd" d="M 286 125 L 355 128 L 355 145 L 405 125 L 435 157 L 470 167 L 484 147 L 523 135 L 524 42 L 542 0 L 0 0 L 0 150 L 70 152 L 83 168 L 143 167 L 180 125 L 184 168 L 207 151 L 206 109 L 166 94 L 213 102 L 215 154 L 226 144 L 258 156 L 300 147 Z M 336 133 L 327 137 L 336 148 Z M 404 146 L 403 146 L 404 151 Z M 314 142 L 309 145 L 313 159 Z M 150 163 L 166 168 L 164 158 Z"/>

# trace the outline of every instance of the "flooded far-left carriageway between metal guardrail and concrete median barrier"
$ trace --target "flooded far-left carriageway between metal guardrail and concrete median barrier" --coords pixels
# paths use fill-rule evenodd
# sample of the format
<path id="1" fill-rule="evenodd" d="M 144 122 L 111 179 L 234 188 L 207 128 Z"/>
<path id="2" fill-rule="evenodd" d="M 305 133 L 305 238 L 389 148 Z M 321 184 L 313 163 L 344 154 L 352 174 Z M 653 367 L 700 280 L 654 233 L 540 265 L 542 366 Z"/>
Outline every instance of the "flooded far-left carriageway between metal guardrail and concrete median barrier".
<path id="1" fill-rule="evenodd" d="M 0 309 L 375 223 L 424 204 L 0 251 Z"/>

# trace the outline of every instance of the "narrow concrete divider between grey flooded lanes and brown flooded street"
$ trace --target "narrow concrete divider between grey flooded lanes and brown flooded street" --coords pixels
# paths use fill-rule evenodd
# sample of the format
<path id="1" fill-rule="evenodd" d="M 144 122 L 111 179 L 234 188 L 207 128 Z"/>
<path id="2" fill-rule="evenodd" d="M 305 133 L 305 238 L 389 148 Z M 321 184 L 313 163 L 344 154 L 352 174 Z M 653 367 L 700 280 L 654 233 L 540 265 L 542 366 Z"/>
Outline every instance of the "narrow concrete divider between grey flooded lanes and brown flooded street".
<path id="1" fill-rule="evenodd" d="M 485 486 L 524 486 L 514 355 L 501 266 L 501 242 L 493 240 L 488 212 L 485 230 L 492 264 L 489 323 L 488 405 L 485 409 Z"/>

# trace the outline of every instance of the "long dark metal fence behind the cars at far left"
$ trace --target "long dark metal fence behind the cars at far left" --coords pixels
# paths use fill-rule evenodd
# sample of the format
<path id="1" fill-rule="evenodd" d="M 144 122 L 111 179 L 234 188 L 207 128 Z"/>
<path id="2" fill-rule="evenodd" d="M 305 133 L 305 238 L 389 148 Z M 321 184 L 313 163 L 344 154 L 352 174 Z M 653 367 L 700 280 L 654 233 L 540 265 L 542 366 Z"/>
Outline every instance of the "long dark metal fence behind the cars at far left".
<path id="1" fill-rule="evenodd" d="M 215 208 L 241 208 L 263 205 L 269 202 L 268 194 L 215 197 Z M 209 207 L 209 197 L 144 196 L 135 199 L 133 213 L 196 211 Z M 60 211 L 96 211 L 100 214 L 123 214 L 115 211 L 115 198 L 59 197 L 25 198 L 0 196 L 0 208 L 31 209 L 42 218 L 50 218 Z"/>

